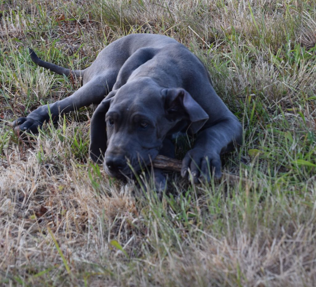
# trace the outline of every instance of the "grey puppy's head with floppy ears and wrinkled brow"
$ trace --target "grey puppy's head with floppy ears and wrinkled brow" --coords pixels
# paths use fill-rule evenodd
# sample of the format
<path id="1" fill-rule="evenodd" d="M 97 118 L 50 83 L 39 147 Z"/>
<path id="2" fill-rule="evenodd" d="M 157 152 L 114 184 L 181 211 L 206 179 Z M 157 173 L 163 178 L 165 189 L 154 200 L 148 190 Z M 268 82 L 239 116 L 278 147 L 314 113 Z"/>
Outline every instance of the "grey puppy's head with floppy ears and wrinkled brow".
<path id="1" fill-rule="evenodd" d="M 158 155 L 169 131 L 179 122 L 197 132 L 207 113 L 184 89 L 164 89 L 152 79 L 128 82 L 110 92 L 96 108 L 90 129 L 90 157 L 113 177 L 138 171 Z M 182 125 L 183 127 L 183 125 Z"/>

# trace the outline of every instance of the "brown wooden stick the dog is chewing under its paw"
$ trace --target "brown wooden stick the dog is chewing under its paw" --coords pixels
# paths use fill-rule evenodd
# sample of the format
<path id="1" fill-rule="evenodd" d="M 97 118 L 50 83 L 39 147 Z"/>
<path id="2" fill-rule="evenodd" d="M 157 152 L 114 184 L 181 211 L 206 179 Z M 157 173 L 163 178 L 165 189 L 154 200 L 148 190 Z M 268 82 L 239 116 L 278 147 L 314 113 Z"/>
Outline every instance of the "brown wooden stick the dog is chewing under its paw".
<path id="1" fill-rule="evenodd" d="M 158 155 L 152 162 L 154 168 L 161 168 L 168 171 L 181 172 L 182 162 L 178 159 L 170 158 L 167 156 Z M 238 175 L 222 172 L 222 180 L 229 180 L 230 182 L 239 182 L 240 180 L 247 185 L 252 185 L 252 180 L 241 178 Z"/>

